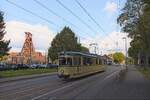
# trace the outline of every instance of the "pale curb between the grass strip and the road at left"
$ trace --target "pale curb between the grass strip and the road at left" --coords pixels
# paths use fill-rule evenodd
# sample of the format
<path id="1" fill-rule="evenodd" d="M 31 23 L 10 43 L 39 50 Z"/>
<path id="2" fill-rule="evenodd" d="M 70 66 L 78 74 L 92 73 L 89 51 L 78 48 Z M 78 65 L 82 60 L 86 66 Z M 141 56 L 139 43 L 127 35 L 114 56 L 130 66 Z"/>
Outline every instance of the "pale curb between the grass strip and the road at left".
<path id="1" fill-rule="evenodd" d="M 57 72 L 46 73 L 46 74 L 26 75 L 26 76 L 12 77 L 12 78 L 2 78 L 2 79 L 0 79 L 0 84 L 1 83 L 7 83 L 7 82 L 13 82 L 13 81 L 20 81 L 20 80 L 46 77 L 46 76 L 55 75 L 55 74 L 57 74 Z"/>

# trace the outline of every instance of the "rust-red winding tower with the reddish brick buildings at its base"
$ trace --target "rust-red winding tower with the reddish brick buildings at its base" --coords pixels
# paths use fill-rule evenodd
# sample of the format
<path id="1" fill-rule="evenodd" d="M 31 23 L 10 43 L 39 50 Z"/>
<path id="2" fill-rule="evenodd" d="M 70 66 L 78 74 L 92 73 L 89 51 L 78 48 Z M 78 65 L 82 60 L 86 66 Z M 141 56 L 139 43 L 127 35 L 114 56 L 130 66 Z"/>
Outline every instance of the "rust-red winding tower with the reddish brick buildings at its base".
<path id="1" fill-rule="evenodd" d="M 46 62 L 46 56 L 35 51 L 30 32 L 25 32 L 25 42 L 21 52 L 11 52 L 7 59 L 7 63 L 10 64 L 44 64 Z"/>

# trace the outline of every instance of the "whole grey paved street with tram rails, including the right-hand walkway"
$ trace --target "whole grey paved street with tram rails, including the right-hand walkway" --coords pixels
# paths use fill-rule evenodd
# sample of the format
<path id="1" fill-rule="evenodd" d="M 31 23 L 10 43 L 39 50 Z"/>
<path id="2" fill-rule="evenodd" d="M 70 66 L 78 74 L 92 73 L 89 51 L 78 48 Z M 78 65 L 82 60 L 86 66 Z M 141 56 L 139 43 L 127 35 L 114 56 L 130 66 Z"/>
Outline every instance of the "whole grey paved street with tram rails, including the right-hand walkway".
<path id="1" fill-rule="evenodd" d="M 106 72 L 71 81 L 57 75 L 0 84 L 0 100 L 148 99 L 150 81 L 132 66 L 127 72 L 108 66 Z"/>

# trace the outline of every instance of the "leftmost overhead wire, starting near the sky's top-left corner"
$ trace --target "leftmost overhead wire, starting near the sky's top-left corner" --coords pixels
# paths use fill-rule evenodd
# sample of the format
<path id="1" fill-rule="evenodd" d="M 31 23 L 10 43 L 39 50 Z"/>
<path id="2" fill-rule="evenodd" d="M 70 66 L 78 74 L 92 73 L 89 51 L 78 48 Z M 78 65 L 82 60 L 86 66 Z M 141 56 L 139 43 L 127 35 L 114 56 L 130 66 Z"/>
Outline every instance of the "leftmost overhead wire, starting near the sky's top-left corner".
<path id="1" fill-rule="evenodd" d="M 36 14 L 36 13 L 30 11 L 30 10 L 25 9 L 25 8 L 21 7 L 20 5 L 17 5 L 17 4 L 14 3 L 14 2 L 11 2 L 11 1 L 9 1 L 9 0 L 6 0 L 6 1 L 7 1 L 8 3 L 10 3 L 10 4 L 16 6 L 17 8 L 20 8 L 20 9 L 22 9 L 22 10 L 24 10 L 24 11 L 30 13 L 30 14 L 33 15 L 33 16 L 36 16 L 36 17 L 38 17 L 38 18 L 40 18 L 40 19 L 42 19 L 42 20 L 44 20 L 44 21 L 46 21 L 46 22 L 48 22 L 48 23 L 50 23 L 50 24 L 52 24 L 52 25 L 55 25 L 55 26 L 59 27 L 57 24 L 53 23 L 52 21 L 50 21 L 50 20 L 48 20 L 48 19 L 46 19 L 46 18 L 43 18 L 43 17 L 39 16 L 38 14 Z"/>

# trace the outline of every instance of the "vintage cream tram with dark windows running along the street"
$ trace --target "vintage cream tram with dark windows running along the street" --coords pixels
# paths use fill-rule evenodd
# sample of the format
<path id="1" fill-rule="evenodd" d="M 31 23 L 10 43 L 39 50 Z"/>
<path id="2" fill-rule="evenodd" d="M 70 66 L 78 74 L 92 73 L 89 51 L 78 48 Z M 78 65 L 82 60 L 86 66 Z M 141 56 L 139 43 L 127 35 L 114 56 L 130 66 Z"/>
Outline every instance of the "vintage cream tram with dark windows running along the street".
<path id="1" fill-rule="evenodd" d="M 104 70 L 99 55 L 72 51 L 59 54 L 59 78 L 78 78 Z"/>

